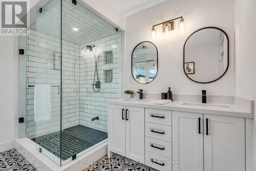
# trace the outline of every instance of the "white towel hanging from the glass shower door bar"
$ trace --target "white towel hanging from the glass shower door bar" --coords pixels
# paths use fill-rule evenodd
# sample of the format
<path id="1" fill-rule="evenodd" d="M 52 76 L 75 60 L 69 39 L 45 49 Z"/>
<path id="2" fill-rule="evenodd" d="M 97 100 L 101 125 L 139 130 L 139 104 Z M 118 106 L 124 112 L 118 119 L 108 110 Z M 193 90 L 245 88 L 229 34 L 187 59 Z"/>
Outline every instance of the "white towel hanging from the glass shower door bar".
<path id="1" fill-rule="evenodd" d="M 35 122 L 51 119 L 51 86 L 35 85 L 34 90 L 34 119 Z"/>

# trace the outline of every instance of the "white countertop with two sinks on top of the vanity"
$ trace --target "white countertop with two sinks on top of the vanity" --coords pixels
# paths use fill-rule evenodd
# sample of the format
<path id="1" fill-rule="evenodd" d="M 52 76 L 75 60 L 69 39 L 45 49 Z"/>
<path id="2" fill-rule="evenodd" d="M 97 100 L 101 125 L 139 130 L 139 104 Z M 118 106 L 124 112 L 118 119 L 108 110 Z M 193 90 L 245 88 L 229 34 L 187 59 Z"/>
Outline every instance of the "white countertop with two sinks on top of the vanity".
<path id="1" fill-rule="evenodd" d="M 246 106 L 239 106 L 236 104 L 217 104 L 217 103 L 207 103 L 209 105 L 190 105 L 186 101 L 173 101 L 168 104 L 160 105 L 154 104 L 155 100 L 145 99 L 116 99 L 108 101 L 108 104 L 116 105 L 126 105 L 126 106 L 136 106 L 141 108 L 152 108 L 152 109 L 162 109 L 162 110 L 171 110 L 171 111 L 182 111 L 182 112 L 192 112 L 192 113 L 203 113 L 203 114 L 212 114 L 212 115 L 224 115 L 224 116 L 233 116 L 233 117 L 243 117 L 243 118 L 253 118 L 253 113 L 251 109 Z M 193 102 L 187 102 L 193 103 Z M 198 103 L 198 102 L 195 102 Z M 200 103 L 199 103 L 200 104 Z M 211 104 L 219 106 L 210 106 Z"/>

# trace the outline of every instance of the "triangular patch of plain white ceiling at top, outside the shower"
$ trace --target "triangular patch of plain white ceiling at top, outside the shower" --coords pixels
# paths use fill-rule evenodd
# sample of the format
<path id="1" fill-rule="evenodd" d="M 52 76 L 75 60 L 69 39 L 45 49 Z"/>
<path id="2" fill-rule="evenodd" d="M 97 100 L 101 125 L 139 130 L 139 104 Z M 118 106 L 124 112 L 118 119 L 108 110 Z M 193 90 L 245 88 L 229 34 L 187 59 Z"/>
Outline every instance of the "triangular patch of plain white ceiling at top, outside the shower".
<path id="1" fill-rule="evenodd" d="M 153 7 L 167 0 L 105 0 L 124 17 L 136 12 Z"/>

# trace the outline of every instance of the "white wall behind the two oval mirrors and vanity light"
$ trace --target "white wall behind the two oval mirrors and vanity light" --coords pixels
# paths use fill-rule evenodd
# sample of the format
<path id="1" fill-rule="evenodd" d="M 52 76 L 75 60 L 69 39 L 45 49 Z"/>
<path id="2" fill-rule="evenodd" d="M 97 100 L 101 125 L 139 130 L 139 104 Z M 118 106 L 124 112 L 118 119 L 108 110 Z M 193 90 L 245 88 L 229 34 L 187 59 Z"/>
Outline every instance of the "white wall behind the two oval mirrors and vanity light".
<path id="1" fill-rule="evenodd" d="M 144 85 L 134 80 L 133 83 L 130 83 L 133 48 L 141 41 L 150 40 L 153 25 L 182 15 L 186 20 L 186 31 L 184 33 L 174 33 L 170 37 L 151 40 L 157 46 L 159 52 L 159 71 L 156 79 Z M 124 90 L 144 89 L 146 93 L 161 93 L 167 92 L 168 87 L 171 87 L 175 94 L 200 94 L 201 90 L 205 89 L 210 95 L 234 95 L 234 0 L 168 0 L 128 16 L 125 25 Z M 219 27 L 228 34 L 230 40 L 230 68 L 222 79 L 213 83 L 199 84 L 189 80 L 183 72 L 183 45 L 192 32 L 207 26 Z"/>

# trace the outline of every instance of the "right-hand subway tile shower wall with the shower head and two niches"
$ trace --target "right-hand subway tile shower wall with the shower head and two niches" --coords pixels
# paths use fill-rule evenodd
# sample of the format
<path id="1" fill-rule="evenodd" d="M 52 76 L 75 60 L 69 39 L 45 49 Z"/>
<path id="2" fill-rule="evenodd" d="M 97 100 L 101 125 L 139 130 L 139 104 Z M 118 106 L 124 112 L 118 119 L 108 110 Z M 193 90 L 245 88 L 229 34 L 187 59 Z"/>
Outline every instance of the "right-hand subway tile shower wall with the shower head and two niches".
<path id="1" fill-rule="evenodd" d="M 121 33 L 104 37 L 89 44 L 80 46 L 80 49 L 87 45 L 95 45 L 96 52 L 100 53 L 97 59 L 101 89 L 95 93 L 92 89 L 94 79 L 95 59 L 84 56 L 80 59 L 80 124 L 92 127 L 96 130 L 108 132 L 108 107 L 106 101 L 121 98 Z M 113 52 L 113 63 L 106 64 L 103 52 Z M 97 55 L 98 55 L 97 54 Z M 105 81 L 105 71 L 113 70 L 113 80 Z M 97 78 L 97 77 L 96 77 Z M 98 89 L 95 89 L 98 90 Z M 99 120 L 91 121 L 99 116 Z"/>

